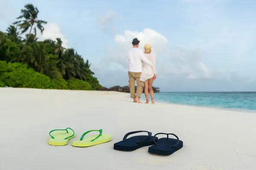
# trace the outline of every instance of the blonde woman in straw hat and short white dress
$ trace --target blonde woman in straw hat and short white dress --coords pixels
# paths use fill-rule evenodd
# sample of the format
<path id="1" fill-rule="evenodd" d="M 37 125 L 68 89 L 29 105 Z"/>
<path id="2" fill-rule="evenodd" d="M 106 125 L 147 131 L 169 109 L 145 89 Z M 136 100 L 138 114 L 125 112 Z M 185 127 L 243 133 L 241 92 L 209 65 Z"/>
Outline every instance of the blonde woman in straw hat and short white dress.
<path id="1" fill-rule="evenodd" d="M 142 73 L 140 76 L 140 81 L 144 82 L 145 88 L 144 93 L 146 97 L 146 103 L 148 103 L 148 91 L 151 96 L 152 104 L 154 104 L 154 91 L 152 88 L 153 80 L 157 78 L 156 76 L 156 59 L 153 54 L 151 54 L 151 46 L 150 44 L 145 44 L 145 57 L 148 58 L 149 61 L 152 62 L 153 66 L 142 63 Z"/>

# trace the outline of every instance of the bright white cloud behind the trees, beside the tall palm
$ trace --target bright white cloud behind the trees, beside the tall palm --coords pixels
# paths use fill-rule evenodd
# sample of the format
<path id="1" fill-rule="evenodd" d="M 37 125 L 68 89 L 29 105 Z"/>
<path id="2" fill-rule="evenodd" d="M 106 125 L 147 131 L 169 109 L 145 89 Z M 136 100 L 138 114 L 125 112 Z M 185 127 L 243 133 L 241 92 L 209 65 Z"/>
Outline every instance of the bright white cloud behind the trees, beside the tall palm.
<path id="1" fill-rule="evenodd" d="M 61 34 L 61 28 L 58 26 L 56 23 L 47 23 L 44 25 L 44 32 L 41 35 L 41 32 L 38 32 L 38 40 L 46 40 L 46 39 L 51 39 L 51 40 L 56 40 L 56 38 L 60 38 L 61 41 L 63 42 L 62 46 L 64 48 L 67 48 L 67 42 L 68 40 L 65 38 L 64 34 Z"/>

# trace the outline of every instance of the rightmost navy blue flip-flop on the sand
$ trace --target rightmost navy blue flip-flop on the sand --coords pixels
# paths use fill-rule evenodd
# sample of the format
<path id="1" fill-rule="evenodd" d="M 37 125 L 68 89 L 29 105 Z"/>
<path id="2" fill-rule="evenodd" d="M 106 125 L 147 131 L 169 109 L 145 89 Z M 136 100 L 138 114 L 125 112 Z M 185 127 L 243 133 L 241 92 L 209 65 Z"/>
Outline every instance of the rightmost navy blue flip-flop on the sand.
<path id="1" fill-rule="evenodd" d="M 159 134 L 167 135 L 167 138 L 160 138 L 157 140 L 157 142 L 154 142 L 154 145 L 148 147 L 149 153 L 158 155 L 171 155 L 183 147 L 183 141 L 181 141 L 177 135 L 173 133 L 157 133 L 154 135 L 154 137 Z M 169 138 L 169 135 L 173 135 L 177 139 Z"/>

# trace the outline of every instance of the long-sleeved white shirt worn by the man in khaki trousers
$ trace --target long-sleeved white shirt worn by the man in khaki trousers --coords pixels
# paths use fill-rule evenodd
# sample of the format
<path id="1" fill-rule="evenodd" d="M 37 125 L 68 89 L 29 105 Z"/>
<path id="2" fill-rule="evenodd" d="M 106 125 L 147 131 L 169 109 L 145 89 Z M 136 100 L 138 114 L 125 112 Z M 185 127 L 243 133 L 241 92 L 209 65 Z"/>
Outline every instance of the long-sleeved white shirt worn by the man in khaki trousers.
<path id="1" fill-rule="evenodd" d="M 139 48 L 131 48 L 127 54 L 127 62 L 129 66 L 129 71 L 131 72 L 142 72 L 142 62 L 141 60 L 150 66 L 152 66 L 152 62 L 150 62 L 142 50 Z"/>

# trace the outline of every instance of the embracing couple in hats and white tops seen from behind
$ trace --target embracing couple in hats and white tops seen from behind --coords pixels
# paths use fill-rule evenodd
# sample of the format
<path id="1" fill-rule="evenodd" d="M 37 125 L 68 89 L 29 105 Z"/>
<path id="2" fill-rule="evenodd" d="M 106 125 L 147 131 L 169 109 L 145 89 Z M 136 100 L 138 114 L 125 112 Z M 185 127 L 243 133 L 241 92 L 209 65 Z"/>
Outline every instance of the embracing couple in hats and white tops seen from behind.
<path id="1" fill-rule="evenodd" d="M 152 104 L 154 104 L 154 91 L 152 88 L 153 80 L 156 79 L 156 64 L 155 57 L 151 54 L 151 46 L 146 44 L 144 46 L 144 53 L 139 47 L 140 41 L 134 38 L 132 41 L 133 48 L 128 51 L 128 76 L 129 76 L 129 88 L 131 98 L 134 102 L 140 102 L 140 96 L 144 93 L 146 97 L 146 103 L 148 103 L 148 91 L 151 96 Z M 137 82 L 137 90 L 135 95 L 135 81 Z"/>

